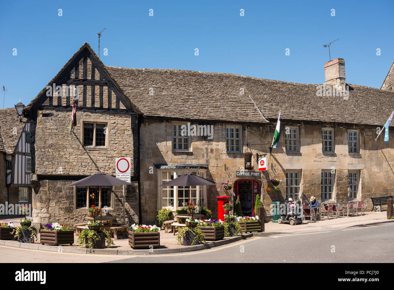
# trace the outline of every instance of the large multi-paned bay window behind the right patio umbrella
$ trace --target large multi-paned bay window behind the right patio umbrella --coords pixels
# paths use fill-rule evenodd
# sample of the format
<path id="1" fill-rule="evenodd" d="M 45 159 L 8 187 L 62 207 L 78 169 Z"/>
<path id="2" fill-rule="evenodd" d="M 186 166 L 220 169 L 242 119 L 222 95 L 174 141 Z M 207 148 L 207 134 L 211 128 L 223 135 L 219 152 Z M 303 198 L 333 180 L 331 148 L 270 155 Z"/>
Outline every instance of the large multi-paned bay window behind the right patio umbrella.
<path id="1" fill-rule="evenodd" d="M 165 182 L 173 180 L 187 171 L 158 171 L 159 186 L 158 186 L 158 209 L 162 208 L 184 208 L 189 203 L 197 204 L 200 208 L 206 201 L 206 188 L 205 186 L 160 186 Z M 199 177 L 205 178 L 205 171 L 190 172 Z"/>

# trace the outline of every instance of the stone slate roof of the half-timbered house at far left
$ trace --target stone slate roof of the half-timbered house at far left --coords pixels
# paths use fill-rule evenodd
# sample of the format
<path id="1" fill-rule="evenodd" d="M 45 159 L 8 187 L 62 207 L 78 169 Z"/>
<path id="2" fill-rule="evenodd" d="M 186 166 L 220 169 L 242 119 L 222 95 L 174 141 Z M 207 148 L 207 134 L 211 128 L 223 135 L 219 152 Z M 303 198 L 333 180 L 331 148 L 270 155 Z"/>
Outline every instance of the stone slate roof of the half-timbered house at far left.
<path id="1" fill-rule="evenodd" d="M 26 118 L 22 118 L 22 121 L 26 120 Z M 15 108 L 0 109 L 0 134 L 2 137 L 0 151 L 3 148 L 4 151 L 2 152 L 13 154 L 24 125 L 25 123 L 19 122 L 19 116 Z M 16 131 L 14 131 L 14 128 L 16 128 Z"/>

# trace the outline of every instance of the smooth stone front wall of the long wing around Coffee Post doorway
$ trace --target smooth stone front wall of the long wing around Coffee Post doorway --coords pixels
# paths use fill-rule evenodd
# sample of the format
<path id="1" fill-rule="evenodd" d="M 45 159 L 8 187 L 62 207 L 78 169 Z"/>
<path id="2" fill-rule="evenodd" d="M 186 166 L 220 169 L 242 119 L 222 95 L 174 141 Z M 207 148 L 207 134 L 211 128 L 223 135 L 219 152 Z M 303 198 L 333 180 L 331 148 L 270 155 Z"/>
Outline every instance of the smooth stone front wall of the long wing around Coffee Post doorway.
<path id="1" fill-rule="evenodd" d="M 282 120 L 281 139 L 279 147 L 269 146 L 275 128 L 269 125 L 243 126 L 243 153 L 226 152 L 226 134 L 224 123 L 214 125 L 214 138 L 204 139 L 201 136 L 191 137 L 191 152 L 172 151 L 171 121 L 145 120 L 141 125 L 141 198 L 143 223 L 154 223 L 157 214 L 158 170 L 154 164 L 208 164 L 206 178 L 214 180 L 215 186 L 207 186 L 207 205 L 217 214 L 216 197 L 231 195 L 220 188 L 220 184 L 230 179 L 225 171 L 229 168 L 232 180 L 235 182 L 236 171 L 245 166 L 245 153 L 252 153 L 252 165 L 258 171 L 255 153 L 268 154 L 268 171 L 264 171 L 258 180 L 261 188 L 262 202 L 269 215 L 273 201 L 284 201 L 286 194 L 286 170 L 301 170 L 300 198 L 309 203 L 310 197 L 315 196 L 321 202 L 321 173 L 322 169 L 335 172 L 333 202 L 348 201 L 348 170 L 359 170 L 361 174 L 359 199 L 366 202 L 367 208 L 372 208 L 370 197 L 393 194 L 394 162 L 393 138 L 388 143 L 383 142 L 383 136 L 375 142 L 375 126 L 340 126 L 322 123 L 295 123 Z M 197 123 L 191 122 L 191 125 Z M 198 123 L 204 125 L 204 123 Z M 284 149 L 284 132 L 286 126 L 299 126 L 301 152 L 290 153 Z M 335 128 L 335 153 L 322 153 L 322 127 Z M 360 153 L 348 153 L 349 129 L 359 130 Z M 252 132 L 253 131 L 253 132 Z M 262 139 L 260 139 L 260 136 Z M 261 145 L 260 143 L 269 143 Z M 249 145 L 247 145 L 249 144 Z M 258 145 L 255 145 L 258 144 Z M 150 169 L 154 168 L 151 170 Z M 269 181 L 278 176 L 283 182 L 280 191 L 273 190 Z M 246 178 L 245 178 L 246 179 Z M 266 190 L 270 187 L 271 190 Z"/>

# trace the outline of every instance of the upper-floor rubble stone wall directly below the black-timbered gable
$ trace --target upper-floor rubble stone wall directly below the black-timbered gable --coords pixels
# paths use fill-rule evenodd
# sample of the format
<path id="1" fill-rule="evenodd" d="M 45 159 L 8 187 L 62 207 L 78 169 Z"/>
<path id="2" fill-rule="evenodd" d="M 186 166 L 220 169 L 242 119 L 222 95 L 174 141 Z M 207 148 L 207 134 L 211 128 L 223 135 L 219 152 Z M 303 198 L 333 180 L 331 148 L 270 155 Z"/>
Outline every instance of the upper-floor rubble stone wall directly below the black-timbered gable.
<path id="1" fill-rule="evenodd" d="M 43 114 L 53 114 L 43 117 Z M 76 112 L 77 125 L 69 135 L 71 112 L 39 111 L 35 128 L 35 173 L 41 175 L 115 174 L 115 158 L 131 157 L 133 134 L 129 114 Z M 108 122 L 108 149 L 82 147 L 81 120 Z M 133 168 L 133 164 L 130 164 Z M 133 173 L 132 173 L 133 176 Z"/>

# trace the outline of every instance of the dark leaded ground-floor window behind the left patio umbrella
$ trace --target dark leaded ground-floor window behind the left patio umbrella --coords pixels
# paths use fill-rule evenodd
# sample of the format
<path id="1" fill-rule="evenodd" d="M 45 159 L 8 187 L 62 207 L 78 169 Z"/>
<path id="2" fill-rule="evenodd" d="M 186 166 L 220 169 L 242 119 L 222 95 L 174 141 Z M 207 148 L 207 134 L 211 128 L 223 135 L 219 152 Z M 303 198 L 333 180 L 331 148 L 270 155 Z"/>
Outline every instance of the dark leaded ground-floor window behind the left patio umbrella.
<path id="1" fill-rule="evenodd" d="M 88 201 L 88 202 L 87 202 Z M 99 186 L 77 186 L 76 208 L 89 208 L 95 205 L 100 208 L 112 208 L 112 188 L 101 187 L 101 204 Z"/>

